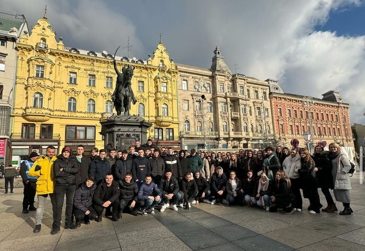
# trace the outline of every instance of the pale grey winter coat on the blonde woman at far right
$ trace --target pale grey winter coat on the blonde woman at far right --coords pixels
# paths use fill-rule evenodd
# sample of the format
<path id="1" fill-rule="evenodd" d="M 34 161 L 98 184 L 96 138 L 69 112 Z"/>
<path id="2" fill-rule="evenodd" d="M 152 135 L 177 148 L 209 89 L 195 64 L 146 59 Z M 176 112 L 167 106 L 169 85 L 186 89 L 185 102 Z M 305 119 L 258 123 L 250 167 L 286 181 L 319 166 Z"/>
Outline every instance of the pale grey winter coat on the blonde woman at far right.
<path id="1" fill-rule="evenodd" d="M 337 156 L 337 174 L 334 177 L 334 189 L 341 190 L 350 190 L 351 189 L 351 181 L 350 176 L 347 173 L 351 169 L 351 164 L 349 158 L 346 157 L 346 154 L 341 152 Z M 333 170 L 336 170 L 333 168 Z M 332 172 L 334 176 L 334 171 Z"/>

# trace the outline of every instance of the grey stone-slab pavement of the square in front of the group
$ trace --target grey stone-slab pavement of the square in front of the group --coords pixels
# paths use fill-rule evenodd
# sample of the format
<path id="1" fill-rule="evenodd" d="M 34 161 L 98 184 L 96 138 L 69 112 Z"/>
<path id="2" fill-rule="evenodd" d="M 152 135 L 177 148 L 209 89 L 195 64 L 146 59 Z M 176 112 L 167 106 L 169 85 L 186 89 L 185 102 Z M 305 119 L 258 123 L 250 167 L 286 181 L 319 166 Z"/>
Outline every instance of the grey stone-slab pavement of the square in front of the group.
<path id="1" fill-rule="evenodd" d="M 4 182 L 4 179 L 0 181 Z M 312 215 L 303 199 L 303 212 L 284 215 L 248 206 L 200 204 L 187 211 L 166 209 L 138 217 L 123 214 L 113 222 L 103 218 L 76 230 L 50 235 L 52 209 L 46 205 L 42 231 L 33 233 L 35 212 L 22 214 L 23 189 L 0 194 L 0 250 L 365 250 L 365 184 L 351 178 L 354 213 Z M 322 204 L 326 205 L 319 191 Z M 342 205 L 337 203 L 338 209 Z M 65 209 L 65 206 L 64 206 Z M 63 214 L 64 215 L 64 214 Z M 62 218 L 64 220 L 64 218 Z M 64 225 L 64 224 L 62 224 Z"/>

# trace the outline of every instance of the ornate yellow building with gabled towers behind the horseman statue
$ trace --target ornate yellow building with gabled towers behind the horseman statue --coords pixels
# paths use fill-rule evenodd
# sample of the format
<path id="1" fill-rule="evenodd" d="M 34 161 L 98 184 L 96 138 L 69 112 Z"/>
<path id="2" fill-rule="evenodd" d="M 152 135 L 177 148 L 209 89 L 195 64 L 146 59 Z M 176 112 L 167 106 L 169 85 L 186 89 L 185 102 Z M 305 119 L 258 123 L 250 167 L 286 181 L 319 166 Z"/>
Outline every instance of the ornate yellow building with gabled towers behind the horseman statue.
<path id="1" fill-rule="evenodd" d="M 114 112 L 114 55 L 66 47 L 62 40 L 57 41 L 45 15 L 16 44 L 13 161 L 31 151 L 44 154 L 49 145 L 76 150 L 82 144 L 85 153 L 104 147 L 99 122 Z M 158 145 L 178 146 L 178 70 L 165 46 L 160 41 L 147 61 L 119 56 L 116 61 L 120 72 L 123 66 L 135 66 L 132 90 L 137 103 L 131 104 L 131 114 L 153 124 L 147 137 Z"/>

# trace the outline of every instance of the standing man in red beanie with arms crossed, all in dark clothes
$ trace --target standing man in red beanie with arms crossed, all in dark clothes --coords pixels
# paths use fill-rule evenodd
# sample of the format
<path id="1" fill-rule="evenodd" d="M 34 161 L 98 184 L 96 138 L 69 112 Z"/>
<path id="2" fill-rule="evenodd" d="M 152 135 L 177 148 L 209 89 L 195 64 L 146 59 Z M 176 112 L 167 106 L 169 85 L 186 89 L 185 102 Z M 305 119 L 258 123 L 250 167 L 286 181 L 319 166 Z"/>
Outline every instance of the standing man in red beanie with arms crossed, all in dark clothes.
<path id="1" fill-rule="evenodd" d="M 66 194 L 66 220 L 65 229 L 76 229 L 77 226 L 72 224 L 72 206 L 73 197 L 75 195 L 76 177 L 79 167 L 76 163 L 76 158 L 72 156 L 71 148 L 66 146 L 62 148 L 62 154 L 58 155 L 53 163 L 54 190 L 56 193 L 56 212 L 53 217 L 53 228 L 51 234 L 56 234 L 61 225 L 62 207 L 64 205 L 64 198 Z"/>

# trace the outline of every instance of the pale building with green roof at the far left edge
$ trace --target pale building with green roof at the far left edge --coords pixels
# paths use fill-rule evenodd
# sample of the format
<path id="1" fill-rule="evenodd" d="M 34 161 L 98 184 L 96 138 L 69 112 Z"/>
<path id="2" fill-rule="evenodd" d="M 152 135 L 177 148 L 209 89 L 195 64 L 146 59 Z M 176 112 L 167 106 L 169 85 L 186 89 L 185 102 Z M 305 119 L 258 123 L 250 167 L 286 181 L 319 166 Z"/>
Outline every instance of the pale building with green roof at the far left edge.
<path id="1" fill-rule="evenodd" d="M 28 32 L 24 15 L 0 9 L 0 162 L 9 156 L 10 114 L 16 67 L 15 43 L 23 32 Z"/>

